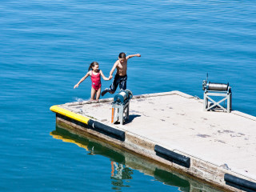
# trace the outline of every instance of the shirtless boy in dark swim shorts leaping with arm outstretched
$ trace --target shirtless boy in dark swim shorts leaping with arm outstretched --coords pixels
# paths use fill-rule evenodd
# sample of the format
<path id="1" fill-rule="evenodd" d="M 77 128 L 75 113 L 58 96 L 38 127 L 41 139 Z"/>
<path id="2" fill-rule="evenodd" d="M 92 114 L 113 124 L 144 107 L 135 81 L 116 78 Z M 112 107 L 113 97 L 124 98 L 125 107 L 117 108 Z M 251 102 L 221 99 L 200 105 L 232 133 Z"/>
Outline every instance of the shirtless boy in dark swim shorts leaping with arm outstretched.
<path id="1" fill-rule="evenodd" d="M 106 90 L 102 91 L 102 96 L 109 92 L 110 94 L 114 94 L 115 90 L 117 90 L 118 85 L 120 90 L 126 90 L 126 81 L 127 81 L 127 60 L 133 57 L 141 57 L 140 54 L 131 54 L 126 57 L 125 53 L 120 53 L 118 56 L 118 61 L 114 63 L 112 70 L 110 70 L 110 79 L 113 78 L 112 74 L 114 70 L 117 69 L 117 73 L 114 76 L 114 81 L 112 82 L 110 89 L 106 88 Z"/>

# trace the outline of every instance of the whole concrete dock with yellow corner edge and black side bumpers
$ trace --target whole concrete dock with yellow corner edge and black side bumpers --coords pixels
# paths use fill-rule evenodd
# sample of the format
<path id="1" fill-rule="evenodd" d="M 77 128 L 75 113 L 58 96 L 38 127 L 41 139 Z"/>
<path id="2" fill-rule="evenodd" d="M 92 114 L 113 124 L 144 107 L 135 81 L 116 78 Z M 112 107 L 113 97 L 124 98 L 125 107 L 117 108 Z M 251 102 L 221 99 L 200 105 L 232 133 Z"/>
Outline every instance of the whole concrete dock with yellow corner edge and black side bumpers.
<path id="1" fill-rule="evenodd" d="M 202 99 L 179 91 L 130 100 L 130 118 L 111 124 L 113 98 L 50 107 L 74 134 L 92 134 L 222 190 L 256 191 L 256 118 L 203 111 Z"/>

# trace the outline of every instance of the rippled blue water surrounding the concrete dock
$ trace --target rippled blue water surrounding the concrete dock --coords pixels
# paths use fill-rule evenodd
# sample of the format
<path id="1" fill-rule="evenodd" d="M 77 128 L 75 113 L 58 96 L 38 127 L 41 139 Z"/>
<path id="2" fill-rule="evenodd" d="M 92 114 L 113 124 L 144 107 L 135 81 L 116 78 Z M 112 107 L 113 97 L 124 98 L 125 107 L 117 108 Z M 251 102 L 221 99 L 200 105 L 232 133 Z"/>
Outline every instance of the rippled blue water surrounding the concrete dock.
<path id="1" fill-rule="evenodd" d="M 210 82 L 230 83 L 234 110 L 256 116 L 255 10 L 254 1 L 234 0 L 2 0 L 0 190 L 120 190 L 112 188 L 108 158 L 50 135 L 49 108 L 89 99 L 90 79 L 73 86 L 93 61 L 108 76 L 122 51 L 142 55 L 128 63 L 134 94 L 202 98 L 209 73 Z M 176 189 L 134 172 L 122 191 Z"/>

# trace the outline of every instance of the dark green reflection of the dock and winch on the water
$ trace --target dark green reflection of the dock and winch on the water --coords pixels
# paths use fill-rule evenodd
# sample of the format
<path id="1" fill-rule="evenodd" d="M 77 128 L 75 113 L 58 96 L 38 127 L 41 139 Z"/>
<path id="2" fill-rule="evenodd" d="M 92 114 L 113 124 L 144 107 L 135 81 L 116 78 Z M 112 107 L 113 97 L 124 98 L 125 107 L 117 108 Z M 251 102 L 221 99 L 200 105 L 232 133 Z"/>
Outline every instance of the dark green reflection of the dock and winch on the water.
<path id="1" fill-rule="evenodd" d="M 133 179 L 134 170 L 139 170 L 143 174 L 153 176 L 156 181 L 165 185 L 176 186 L 178 190 L 184 192 L 190 191 L 212 191 L 217 192 L 211 186 L 200 183 L 192 178 L 186 178 L 172 170 L 166 170 L 154 162 L 149 162 L 137 155 L 130 154 L 125 150 L 120 150 L 88 136 L 78 136 L 70 133 L 64 127 L 56 126 L 56 130 L 50 132 L 53 138 L 61 139 L 63 142 L 72 142 L 87 151 L 88 154 L 100 154 L 110 158 L 110 178 L 112 189 L 121 191 L 124 187 L 129 187 L 129 180 Z"/>

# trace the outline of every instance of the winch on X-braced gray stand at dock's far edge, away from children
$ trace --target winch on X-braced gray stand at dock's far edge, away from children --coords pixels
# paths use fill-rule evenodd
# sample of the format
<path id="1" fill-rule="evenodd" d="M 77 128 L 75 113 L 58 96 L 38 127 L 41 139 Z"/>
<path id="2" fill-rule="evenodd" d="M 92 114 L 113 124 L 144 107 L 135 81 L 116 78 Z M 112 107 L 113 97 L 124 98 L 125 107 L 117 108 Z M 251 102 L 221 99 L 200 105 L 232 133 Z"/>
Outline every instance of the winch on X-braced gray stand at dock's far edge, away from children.
<path id="1" fill-rule="evenodd" d="M 215 82 L 208 82 L 208 74 L 206 80 L 202 81 L 202 90 L 204 90 L 203 94 L 203 108 L 204 110 L 215 110 L 221 109 L 224 112 L 231 111 L 232 106 L 232 94 L 231 94 L 231 87 L 229 83 L 215 83 Z M 213 98 L 210 96 L 217 96 L 222 97 L 222 99 L 218 102 L 215 102 Z M 224 98 L 223 98 L 224 97 Z M 208 102 L 210 100 L 210 102 Z M 226 107 L 225 107 L 225 101 Z M 220 103 L 224 102 L 224 107 L 220 105 Z"/>

